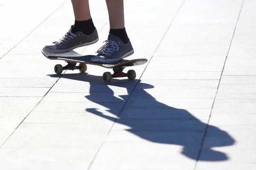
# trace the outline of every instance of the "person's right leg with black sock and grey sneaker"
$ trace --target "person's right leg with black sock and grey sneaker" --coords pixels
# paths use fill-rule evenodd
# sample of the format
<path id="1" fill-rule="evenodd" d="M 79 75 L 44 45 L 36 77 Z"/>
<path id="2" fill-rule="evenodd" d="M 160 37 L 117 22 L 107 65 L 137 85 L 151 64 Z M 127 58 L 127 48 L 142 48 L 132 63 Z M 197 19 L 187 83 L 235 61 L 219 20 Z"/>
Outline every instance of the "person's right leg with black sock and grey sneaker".
<path id="1" fill-rule="evenodd" d="M 107 43 L 93 57 L 93 62 L 117 62 L 134 54 L 134 49 L 125 31 L 123 0 L 106 0 L 110 31 Z"/>

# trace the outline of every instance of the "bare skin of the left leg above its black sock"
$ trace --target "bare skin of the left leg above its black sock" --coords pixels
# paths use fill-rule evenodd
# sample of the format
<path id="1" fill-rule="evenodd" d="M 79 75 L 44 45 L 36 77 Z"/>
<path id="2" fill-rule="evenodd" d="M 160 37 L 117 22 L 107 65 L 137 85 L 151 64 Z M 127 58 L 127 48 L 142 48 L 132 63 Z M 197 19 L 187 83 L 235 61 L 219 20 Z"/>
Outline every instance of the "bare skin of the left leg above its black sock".
<path id="1" fill-rule="evenodd" d="M 78 21 L 90 20 L 89 0 L 71 0 L 75 19 Z"/>

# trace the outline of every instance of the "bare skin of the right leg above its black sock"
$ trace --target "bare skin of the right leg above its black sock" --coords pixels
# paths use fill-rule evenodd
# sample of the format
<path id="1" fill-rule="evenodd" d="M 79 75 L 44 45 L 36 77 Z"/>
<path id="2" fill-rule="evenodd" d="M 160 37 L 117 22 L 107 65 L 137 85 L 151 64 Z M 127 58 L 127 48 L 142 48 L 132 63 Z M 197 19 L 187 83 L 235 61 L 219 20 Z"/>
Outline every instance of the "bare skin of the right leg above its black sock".
<path id="1" fill-rule="evenodd" d="M 111 29 L 125 28 L 124 1 L 106 0 Z"/>

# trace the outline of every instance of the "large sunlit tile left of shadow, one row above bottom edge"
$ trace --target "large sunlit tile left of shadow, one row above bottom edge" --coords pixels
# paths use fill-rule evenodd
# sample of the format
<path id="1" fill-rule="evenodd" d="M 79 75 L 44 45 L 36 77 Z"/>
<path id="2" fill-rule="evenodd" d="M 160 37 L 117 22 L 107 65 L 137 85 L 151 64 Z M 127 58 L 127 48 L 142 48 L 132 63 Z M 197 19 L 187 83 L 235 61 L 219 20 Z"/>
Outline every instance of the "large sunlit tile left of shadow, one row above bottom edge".
<path id="1" fill-rule="evenodd" d="M 2 148 L 83 148 L 102 143 L 112 124 L 23 123 Z"/>

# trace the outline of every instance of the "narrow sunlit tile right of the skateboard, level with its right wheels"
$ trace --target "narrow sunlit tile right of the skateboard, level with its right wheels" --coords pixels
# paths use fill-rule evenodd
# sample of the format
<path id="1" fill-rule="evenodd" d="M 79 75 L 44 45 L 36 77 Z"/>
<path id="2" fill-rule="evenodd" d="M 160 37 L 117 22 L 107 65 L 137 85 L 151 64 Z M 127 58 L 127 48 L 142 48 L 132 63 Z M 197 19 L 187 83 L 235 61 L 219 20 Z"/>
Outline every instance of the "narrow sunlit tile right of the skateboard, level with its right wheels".
<path id="1" fill-rule="evenodd" d="M 146 70 L 141 79 L 143 80 L 218 80 L 221 72 L 215 71 L 150 71 Z"/>

